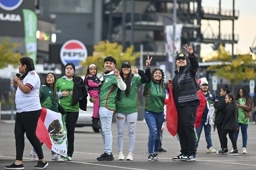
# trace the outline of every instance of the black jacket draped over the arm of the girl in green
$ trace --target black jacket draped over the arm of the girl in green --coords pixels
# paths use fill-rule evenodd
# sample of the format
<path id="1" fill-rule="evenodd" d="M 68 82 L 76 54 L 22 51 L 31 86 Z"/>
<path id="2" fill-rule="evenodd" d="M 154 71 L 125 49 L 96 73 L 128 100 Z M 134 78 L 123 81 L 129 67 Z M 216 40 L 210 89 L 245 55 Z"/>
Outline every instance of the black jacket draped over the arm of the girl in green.
<path id="1" fill-rule="evenodd" d="M 86 111 L 88 92 L 84 86 L 83 79 L 79 76 L 73 76 L 73 81 L 72 106 L 79 102 L 79 108 Z"/>

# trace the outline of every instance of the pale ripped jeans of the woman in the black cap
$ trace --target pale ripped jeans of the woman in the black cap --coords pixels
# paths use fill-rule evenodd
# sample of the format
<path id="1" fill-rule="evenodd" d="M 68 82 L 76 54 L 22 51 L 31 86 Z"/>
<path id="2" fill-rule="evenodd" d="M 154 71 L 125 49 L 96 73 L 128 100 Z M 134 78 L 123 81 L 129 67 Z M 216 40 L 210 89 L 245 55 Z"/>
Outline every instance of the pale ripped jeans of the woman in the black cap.
<path id="1" fill-rule="evenodd" d="M 129 135 L 129 152 L 133 152 L 135 145 L 135 127 L 137 122 L 138 113 L 116 113 L 116 125 L 117 125 L 117 143 L 118 151 L 123 152 L 124 141 L 124 127 L 127 120 L 128 135 Z"/>

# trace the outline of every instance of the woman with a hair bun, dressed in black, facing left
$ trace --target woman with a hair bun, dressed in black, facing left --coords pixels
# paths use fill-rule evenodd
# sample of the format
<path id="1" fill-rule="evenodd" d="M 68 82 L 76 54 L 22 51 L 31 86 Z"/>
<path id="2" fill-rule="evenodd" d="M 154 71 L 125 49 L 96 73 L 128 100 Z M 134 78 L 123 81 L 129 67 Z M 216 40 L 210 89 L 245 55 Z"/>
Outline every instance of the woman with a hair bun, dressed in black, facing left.
<path id="1" fill-rule="evenodd" d="M 227 103 L 225 102 L 225 97 L 229 92 L 230 92 L 229 86 L 227 84 L 225 84 L 225 86 L 223 88 L 221 88 L 221 90 L 220 90 L 220 97 L 219 97 L 219 95 L 216 95 L 216 99 L 213 104 L 214 108 L 217 109 L 217 111 L 215 113 L 214 123 L 216 125 L 219 140 L 220 140 L 220 149 L 217 151 L 217 153 L 223 148 L 222 142 L 221 142 L 221 132 L 222 132 L 221 126 L 226 117 L 225 109 L 227 107 Z"/>

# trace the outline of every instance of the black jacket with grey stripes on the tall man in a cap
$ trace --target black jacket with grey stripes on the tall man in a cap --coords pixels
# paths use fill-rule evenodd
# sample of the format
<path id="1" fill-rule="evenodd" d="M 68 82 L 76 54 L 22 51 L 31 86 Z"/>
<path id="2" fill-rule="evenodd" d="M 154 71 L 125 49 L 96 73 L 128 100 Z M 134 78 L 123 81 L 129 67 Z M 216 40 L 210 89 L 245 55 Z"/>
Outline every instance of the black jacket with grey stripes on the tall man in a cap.
<path id="1" fill-rule="evenodd" d="M 175 76 L 173 78 L 173 96 L 176 107 L 179 106 L 189 106 L 198 105 L 199 97 L 197 94 L 197 84 L 196 84 L 196 72 L 198 69 L 198 62 L 193 54 L 188 56 L 190 65 L 180 67 L 175 71 Z"/>

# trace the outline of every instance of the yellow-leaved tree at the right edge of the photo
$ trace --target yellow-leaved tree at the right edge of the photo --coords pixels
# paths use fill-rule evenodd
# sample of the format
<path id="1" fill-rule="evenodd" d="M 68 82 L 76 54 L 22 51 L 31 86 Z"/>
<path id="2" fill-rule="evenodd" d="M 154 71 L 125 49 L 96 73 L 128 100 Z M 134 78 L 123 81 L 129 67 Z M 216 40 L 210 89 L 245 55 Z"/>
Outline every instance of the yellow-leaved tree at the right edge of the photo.
<path id="1" fill-rule="evenodd" d="M 250 54 L 237 55 L 236 59 L 225 50 L 222 45 L 211 61 L 221 61 L 222 65 L 212 65 L 207 70 L 215 71 L 219 77 L 225 78 L 231 82 L 231 92 L 234 93 L 234 86 L 239 81 L 246 81 L 256 78 L 256 63 Z"/>

